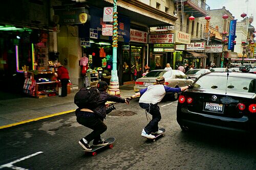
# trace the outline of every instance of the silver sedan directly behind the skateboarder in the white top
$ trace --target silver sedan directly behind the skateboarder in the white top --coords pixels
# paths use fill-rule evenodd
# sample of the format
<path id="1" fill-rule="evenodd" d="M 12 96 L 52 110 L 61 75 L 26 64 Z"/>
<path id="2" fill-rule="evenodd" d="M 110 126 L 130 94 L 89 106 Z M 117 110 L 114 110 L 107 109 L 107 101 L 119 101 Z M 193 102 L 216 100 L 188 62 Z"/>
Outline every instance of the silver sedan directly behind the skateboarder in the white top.
<path id="1" fill-rule="evenodd" d="M 134 91 L 139 92 L 140 89 L 154 85 L 158 76 L 163 76 L 165 79 L 165 85 L 169 87 L 182 87 L 194 82 L 180 70 L 158 69 L 150 71 L 144 77 L 137 79 L 135 82 Z M 177 100 L 179 97 L 178 93 L 170 93 L 170 95 L 172 95 L 173 100 Z"/>

